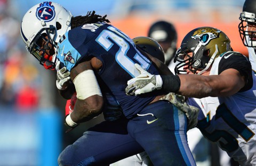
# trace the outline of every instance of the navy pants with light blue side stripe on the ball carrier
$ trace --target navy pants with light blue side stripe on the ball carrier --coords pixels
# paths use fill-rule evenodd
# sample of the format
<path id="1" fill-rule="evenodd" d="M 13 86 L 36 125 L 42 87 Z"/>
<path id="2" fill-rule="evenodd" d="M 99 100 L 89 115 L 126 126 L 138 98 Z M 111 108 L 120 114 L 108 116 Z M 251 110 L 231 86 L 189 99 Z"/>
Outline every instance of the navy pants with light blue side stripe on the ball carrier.
<path id="1" fill-rule="evenodd" d="M 184 112 L 170 102 L 149 104 L 132 119 L 103 121 L 62 151 L 60 166 L 109 165 L 146 151 L 155 166 L 196 165 Z"/>

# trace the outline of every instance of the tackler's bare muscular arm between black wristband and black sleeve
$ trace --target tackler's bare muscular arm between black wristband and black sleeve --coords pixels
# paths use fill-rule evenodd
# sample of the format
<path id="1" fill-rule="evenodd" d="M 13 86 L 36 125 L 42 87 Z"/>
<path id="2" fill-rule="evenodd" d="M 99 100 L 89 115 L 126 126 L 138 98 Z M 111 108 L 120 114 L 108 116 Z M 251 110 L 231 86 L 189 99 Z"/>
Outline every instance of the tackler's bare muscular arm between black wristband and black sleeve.
<path id="1" fill-rule="evenodd" d="M 245 86 L 245 77 L 233 68 L 226 69 L 220 75 L 181 74 L 179 94 L 186 97 L 223 97 L 237 93 Z M 170 85 L 169 85 L 170 86 Z M 166 90 L 168 86 L 164 85 Z"/>

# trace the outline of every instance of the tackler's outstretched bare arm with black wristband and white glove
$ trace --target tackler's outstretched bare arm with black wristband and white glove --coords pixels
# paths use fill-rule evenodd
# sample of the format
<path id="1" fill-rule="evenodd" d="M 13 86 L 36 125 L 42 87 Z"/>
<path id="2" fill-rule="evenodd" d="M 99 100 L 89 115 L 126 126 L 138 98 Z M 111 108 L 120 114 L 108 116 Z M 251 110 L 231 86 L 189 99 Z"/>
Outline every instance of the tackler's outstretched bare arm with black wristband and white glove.
<path id="1" fill-rule="evenodd" d="M 235 94 L 245 86 L 245 77 L 236 69 L 229 68 L 219 75 L 152 75 L 135 65 L 141 76 L 132 78 L 127 82 L 125 89 L 128 95 L 147 93 L 158 89 L 175 92 L 186 97 L 204 98 L 221 97 Z M 148 77 L 145 77 L 145 74 Z"/>

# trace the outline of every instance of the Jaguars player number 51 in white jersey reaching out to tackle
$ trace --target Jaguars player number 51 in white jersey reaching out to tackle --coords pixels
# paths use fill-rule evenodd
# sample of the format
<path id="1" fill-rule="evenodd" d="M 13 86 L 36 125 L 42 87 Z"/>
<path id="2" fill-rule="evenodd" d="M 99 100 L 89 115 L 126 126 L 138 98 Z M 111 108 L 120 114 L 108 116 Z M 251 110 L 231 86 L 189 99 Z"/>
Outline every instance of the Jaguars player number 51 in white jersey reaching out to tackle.
<path id="1" fill-rule="evenodd" d="M 249 60 L 231 50 L 221 30 L 196 28 L 183 38 L 175 55 L 178 75 L 152 75 L 135 65 L 142 74 L 127 83 L 126 93 L 154 91 L 160 77 L 162 90 L 184 95 L 201 109 L 197 128 L 209 141 L 240 165 L 255 165 L 256 77 Z"/>

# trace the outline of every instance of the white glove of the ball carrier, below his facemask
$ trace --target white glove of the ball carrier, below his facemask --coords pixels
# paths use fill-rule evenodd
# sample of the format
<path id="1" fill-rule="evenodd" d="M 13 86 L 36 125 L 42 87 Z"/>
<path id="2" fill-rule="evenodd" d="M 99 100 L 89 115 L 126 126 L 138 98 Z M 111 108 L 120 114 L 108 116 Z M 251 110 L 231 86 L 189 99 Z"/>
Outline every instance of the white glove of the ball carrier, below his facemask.
<path id="1" fill-rule="evenodd" d="M 57 71 L 56 86 L 59 90 L 65 90 L 68 87 L 67 82 L 70 80 L 70 72 L 66 67 L 60 69 L 60 61 L 57 62 L 55 69 Z"/>

